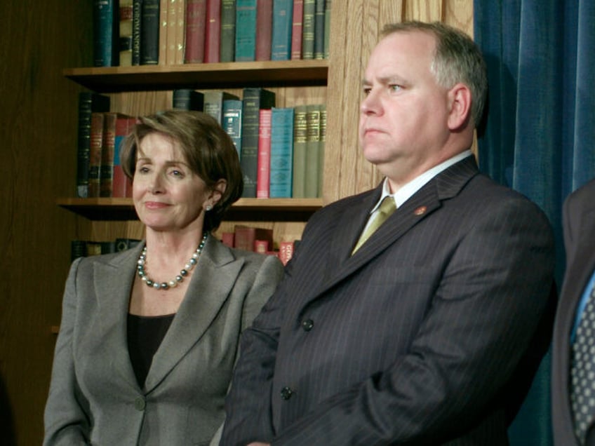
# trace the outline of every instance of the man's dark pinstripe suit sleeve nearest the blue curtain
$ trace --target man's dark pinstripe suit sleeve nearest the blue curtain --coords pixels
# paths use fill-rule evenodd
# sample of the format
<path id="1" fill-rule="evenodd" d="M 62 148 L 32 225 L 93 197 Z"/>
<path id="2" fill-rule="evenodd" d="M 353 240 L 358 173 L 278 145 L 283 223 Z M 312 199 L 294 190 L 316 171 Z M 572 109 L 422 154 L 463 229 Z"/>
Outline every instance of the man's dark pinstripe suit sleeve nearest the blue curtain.
<path id="1" fill-rule="evenodd" d="M 408 354 L 322 400 L 272 444 L 435 443 L 472 430 L 493 407 L 502 407 L 499 399 L 548 304 L 554 267 L 549 223 L 527 206 L 512 200 L 476 217 L 441 273 Z M 256 356 L 269 342 L 268 363 L 274 357 L 274 336 L 263 332 L 253 337 L 267 341 L 258 347 L 249 345 L 257 340 L 251 341 L 247 348 Z M 267 367 L 258 377 L 262 392 L 268 391 L 272 372 Z M 239 383 L 243 386 L 244 379 Z"/>

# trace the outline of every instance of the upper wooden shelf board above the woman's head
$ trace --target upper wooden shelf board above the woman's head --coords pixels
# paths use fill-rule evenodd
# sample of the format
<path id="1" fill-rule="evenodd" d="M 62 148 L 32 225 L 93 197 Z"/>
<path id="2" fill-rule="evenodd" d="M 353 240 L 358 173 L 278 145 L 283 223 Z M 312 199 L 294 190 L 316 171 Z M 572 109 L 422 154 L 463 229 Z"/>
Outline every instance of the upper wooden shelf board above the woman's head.
<path id="1" fill-rule="evenodd" d="M 262 85 L 326 86 L 328 60 L 67 68 L 63 74 L 98 93 Z"/>

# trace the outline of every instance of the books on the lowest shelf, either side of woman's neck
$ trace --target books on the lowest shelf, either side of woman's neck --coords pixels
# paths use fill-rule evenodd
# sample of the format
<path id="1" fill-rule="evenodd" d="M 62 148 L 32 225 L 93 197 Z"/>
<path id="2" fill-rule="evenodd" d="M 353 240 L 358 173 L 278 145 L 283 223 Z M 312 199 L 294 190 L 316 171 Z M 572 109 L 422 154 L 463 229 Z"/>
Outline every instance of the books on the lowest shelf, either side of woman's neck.
<path id="1" fill-rule="evenodd" d="M 273 244 L 273 230 L 236 225 L 234 232 L 223 232 L 221 241 L 231 248 L 276 255 L 283 264 L 289 262 L 297 241 L 281 241 L 279 249 Z M 78 257 L 109 254 L 134 248 L 140 243 L 136 238 L 116 238 L 112 241 L 72 240 L 70 242 L 71 262 Z"/>

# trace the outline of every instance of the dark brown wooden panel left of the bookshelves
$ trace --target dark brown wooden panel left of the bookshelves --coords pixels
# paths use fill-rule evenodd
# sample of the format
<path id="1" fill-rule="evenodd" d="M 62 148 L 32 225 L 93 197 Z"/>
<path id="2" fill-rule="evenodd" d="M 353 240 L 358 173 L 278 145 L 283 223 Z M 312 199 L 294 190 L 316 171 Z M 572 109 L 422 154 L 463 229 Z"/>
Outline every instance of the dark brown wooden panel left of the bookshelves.
<path id="1" fill-rule="evenodd" d="M 40 445 L 69 243 L 77 93 L 62 68 L 89 65 L 91 1 L 2 2 L 0 66 L 0 443 Z M 2 386 L 6 387 L 6 397 Z M 14 435 L 11 435 L 13 431 Z"/>

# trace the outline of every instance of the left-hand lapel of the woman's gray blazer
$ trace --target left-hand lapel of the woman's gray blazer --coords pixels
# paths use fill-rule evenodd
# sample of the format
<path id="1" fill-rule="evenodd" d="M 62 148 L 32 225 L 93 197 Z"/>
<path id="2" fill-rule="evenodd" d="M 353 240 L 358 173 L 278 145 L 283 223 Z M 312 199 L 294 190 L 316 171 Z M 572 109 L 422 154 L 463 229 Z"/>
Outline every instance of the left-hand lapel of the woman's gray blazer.
<path id="1" fill-rule="evenodd" d="M 136 259 L 144 243 L 126 250 L 109 263 L 95 264 L 93 286 L 98 299 L 105 349 L 112 358 L 115 369 L 128 384 L 138 388 L 138 383 L 128 355 L 126 334 L 128 304 L 136 272 Z"/>

